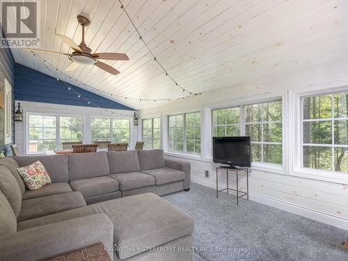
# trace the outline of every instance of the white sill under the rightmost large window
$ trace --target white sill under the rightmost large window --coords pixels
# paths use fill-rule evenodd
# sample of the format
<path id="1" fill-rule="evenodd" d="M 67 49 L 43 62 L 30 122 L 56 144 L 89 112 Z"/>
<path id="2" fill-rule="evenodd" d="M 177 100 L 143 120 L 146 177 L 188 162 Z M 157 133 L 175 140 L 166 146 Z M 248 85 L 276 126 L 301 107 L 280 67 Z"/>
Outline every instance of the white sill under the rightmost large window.
<path id="1" fill-rule="evenodd" d="M 348 174 L 335 171 L 322 171 L 314 168 L 296 168 L 291 171 L 289 175 L 312 180 L 321 180 L 324 182 L 348 184 Z"/>

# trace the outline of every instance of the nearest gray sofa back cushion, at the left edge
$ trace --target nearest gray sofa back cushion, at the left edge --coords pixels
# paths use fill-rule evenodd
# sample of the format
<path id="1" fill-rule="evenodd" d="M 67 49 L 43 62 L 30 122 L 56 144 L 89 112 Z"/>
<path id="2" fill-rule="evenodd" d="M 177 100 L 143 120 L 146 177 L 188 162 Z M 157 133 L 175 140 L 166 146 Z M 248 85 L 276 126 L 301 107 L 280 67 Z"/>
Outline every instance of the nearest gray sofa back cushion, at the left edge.
<path id="1" fill-rule="evenodd" d="M 17 217 L 8 203 L 6 196 L 0 191 L 0 236 L 17 231 Z"/>

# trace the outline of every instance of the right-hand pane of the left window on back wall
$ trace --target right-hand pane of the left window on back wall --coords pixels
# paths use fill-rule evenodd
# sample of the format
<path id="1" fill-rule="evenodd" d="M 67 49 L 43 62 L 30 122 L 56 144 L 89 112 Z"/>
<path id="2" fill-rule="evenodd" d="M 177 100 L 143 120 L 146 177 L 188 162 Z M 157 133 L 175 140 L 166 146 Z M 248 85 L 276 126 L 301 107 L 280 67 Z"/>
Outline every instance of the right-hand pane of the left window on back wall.
<path id="1" fill-rule="evenodd" d="M 62 143 L 66 141 L 82 141 L 83 136 L 83 117 L 59 117 L 59 148 L 63 148 Z"/>

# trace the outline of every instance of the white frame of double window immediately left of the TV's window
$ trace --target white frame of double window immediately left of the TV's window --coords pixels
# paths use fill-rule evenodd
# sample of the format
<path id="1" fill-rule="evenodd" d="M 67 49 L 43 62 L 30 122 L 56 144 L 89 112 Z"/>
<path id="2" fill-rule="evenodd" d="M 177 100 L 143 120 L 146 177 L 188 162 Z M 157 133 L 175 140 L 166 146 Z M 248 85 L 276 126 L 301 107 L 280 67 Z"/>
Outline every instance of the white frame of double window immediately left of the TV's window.
<path id="1" fill-rule="evenodd" d="M 189 153 L 187 152 L 187 139 L 186 139 L 186 115 L 189 113 L 200 113 L 200 153 Z M 183 116 L 183 140 L 182 140 L 182 145 L 183 145 L 183 151 L 177 151 L 177 150 L 170 150 L 170 139 L 169 139 L 169 117 L 171 116 Z M 190 157 L 201 157 L 202 154 L 202 112 L 201 111 L 188 111 L 185 113 L 175 113 L 175 114 L 170 114 L 166 117 L 167 120 L 167 146 L 168 146 L 168 152 L 174 155 L 189 155 Z"/>

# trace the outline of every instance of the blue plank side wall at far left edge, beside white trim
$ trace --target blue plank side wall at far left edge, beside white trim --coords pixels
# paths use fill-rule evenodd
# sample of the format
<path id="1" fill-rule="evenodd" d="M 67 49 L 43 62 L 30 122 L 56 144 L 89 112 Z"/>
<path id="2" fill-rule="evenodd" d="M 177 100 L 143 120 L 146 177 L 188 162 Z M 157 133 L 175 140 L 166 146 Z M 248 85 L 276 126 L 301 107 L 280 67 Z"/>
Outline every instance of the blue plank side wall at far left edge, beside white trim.
<path id="1" fill-rule="evenodd" d="M 1 24 L 0 24 L 1 26 Z M 1 33 L 1 32 L 0 32 Z M 8 48 L 0 48 L 0 84 L 4 90 L 4 78 L 8 80 L 10 85 L 12 86 L 12 115 L 14 116 L 15 111 L 15 59 L 13 58 L 12 52 Z M 10 148 L 10 144 L 4 144 L 3 138 L 4 134 L 4 117 L 5 111 L 3 109 L 0 110 L 0 126 L 1 126 L 1 143 L 0 143 L 0 151 L 5 151 L 6 155 L 12 155 L 12 151 Z M 15 143 L 15 122 L 12 118 L 12 143 Z"/>

